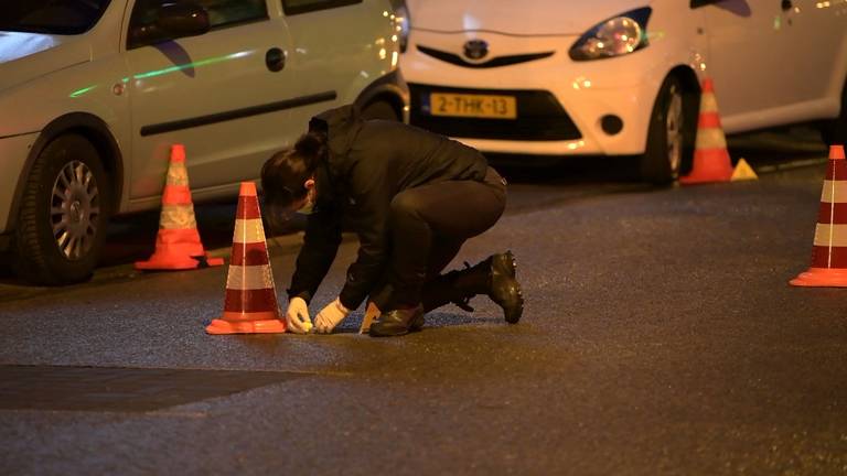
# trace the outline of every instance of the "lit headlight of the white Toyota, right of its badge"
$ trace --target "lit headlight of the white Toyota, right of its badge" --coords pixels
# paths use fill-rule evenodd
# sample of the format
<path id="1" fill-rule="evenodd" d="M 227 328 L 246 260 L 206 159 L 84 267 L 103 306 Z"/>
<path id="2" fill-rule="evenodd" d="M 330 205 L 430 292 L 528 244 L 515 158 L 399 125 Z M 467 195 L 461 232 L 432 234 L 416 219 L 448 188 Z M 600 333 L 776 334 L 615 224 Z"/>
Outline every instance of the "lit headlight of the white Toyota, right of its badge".
<path id="1" fill-rule="evenodd" d="M 647 20 L 652 11 L 650 7 L 640 8 L 598 23 L 570 47 L 571 60 L 602 60 L 647 46 Z"/>

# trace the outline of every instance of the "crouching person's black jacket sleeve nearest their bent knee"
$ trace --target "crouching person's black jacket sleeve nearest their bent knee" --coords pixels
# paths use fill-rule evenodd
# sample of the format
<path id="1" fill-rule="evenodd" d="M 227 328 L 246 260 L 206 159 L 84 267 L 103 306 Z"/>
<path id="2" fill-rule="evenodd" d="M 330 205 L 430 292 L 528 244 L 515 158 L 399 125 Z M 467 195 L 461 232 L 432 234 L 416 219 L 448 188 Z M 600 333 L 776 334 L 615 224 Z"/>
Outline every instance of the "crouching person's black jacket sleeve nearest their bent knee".
<path id="1" fill-rule="evenodd" d="M 390 191 L 385 171 L 361 167 L 352 171 L 351 206 L 353 226 L 358 235 L 358 256 L 347 269 L 347 279 L 339 295 L 341 303 L 354 310 L 373 291 L 388 262 L 387 226 Z"/>

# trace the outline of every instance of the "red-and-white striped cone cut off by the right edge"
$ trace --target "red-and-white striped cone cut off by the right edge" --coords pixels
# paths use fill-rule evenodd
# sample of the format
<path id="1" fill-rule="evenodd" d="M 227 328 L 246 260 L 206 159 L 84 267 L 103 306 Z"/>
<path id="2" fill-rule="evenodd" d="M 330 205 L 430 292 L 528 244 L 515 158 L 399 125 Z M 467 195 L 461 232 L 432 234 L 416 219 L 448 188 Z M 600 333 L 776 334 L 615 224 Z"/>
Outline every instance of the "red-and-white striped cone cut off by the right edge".
<path id="1" fill-rule="evenodd" d="M 812 267 L 790 281 L 800 286 L 847 288 L 847 161 L 844 145 L 829 147 Z"/>

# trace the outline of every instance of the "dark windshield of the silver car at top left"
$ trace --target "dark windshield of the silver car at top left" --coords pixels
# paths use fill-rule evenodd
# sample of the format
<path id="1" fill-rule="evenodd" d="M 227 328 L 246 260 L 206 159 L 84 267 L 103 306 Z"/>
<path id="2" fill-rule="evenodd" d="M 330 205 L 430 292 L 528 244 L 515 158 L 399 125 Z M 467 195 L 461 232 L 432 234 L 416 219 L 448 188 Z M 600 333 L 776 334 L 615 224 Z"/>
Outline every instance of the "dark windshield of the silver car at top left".
<path id="1" fill-rule="evenodd" d="M 0 31 L 81 34 L 106 11 L 111 0 L 0 0 Z"/>

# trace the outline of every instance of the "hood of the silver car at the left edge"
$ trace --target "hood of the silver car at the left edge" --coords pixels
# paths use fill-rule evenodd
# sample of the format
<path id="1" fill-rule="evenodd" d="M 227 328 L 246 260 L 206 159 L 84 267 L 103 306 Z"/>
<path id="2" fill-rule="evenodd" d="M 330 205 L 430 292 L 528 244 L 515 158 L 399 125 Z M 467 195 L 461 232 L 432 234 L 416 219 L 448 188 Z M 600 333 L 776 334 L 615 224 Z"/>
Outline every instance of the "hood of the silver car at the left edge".
<path id="1" fill-rule="evenodd" d="M 0 31 L 0 90 L 90 58 L 89 45 L 75 36 Z"/>

